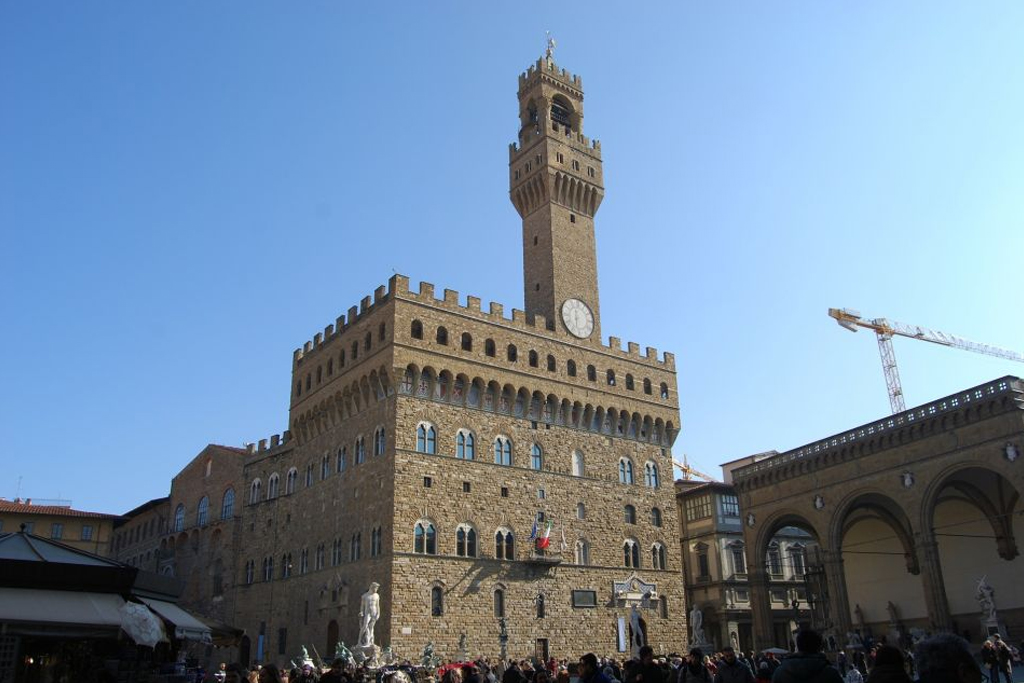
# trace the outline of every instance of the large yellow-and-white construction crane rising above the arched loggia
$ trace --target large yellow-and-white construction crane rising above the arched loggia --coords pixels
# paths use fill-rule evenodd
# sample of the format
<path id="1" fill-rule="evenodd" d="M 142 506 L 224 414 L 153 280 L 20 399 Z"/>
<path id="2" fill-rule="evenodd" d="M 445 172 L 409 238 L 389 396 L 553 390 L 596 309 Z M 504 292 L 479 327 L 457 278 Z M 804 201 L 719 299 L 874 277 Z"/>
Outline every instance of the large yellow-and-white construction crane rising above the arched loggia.
<path id="1" fill-rule="evenodd" d="M 857 328 L 865 328 L 867 330 L 874 331 L 874 334 L 879 338 L 879 353 L 882 355 L 882 371 L 886 375 L 886 387 L 889 389 L 889 404 L 892 408 L 893 415 L 896 413 L 902 413 L 906 410 L 906 404 L 903 402 L 903 386 L 899 381 L 899 369 L 896 367 L 896 353 L 893 350 L 893 335 L 909 337 L 910 339 L 921 339 L 922 341 L 929 341 L 933 344 L 951 346 L 953 348 L 964 349 L 965 351 L 974 351 L 975 353 L 994 355 L 997 358 L 1024 362 L 1024 354 L 1018 353 L 1017 351 L 1010 351 L 1005 348 L 999 348 L 998 346 L 990 346 L 989 344 L 973 342 L 968 339 L 964 339 L 963 337 L 950 335 L 945 332 L 936 332 L 935 330 L 929 330 L 928 328 L 922 328 L 916 325 L 906 325 L 904 323 L 897 323 L 896 321 L 887 321 L 884 317 L 867 319 L 865 317 L 861 317 L 858 311 L 850 308 L 829 308 L 828 314 L 836 318 L 836 322 L 839 323 L 840 327 L 845 328 L 850 332 L 856 332 Z"/>

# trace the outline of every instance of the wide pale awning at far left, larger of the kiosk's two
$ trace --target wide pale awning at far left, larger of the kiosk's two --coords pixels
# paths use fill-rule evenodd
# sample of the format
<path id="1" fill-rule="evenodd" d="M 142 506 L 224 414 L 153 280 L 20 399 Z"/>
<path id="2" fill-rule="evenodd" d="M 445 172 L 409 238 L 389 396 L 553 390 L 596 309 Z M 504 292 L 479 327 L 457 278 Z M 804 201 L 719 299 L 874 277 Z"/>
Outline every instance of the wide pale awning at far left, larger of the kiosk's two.
<path id="1" fill-rule="evenodd" d="M 0 622 L 120 629 L 124 603 L 115 593 L 0 588 Z"/>

